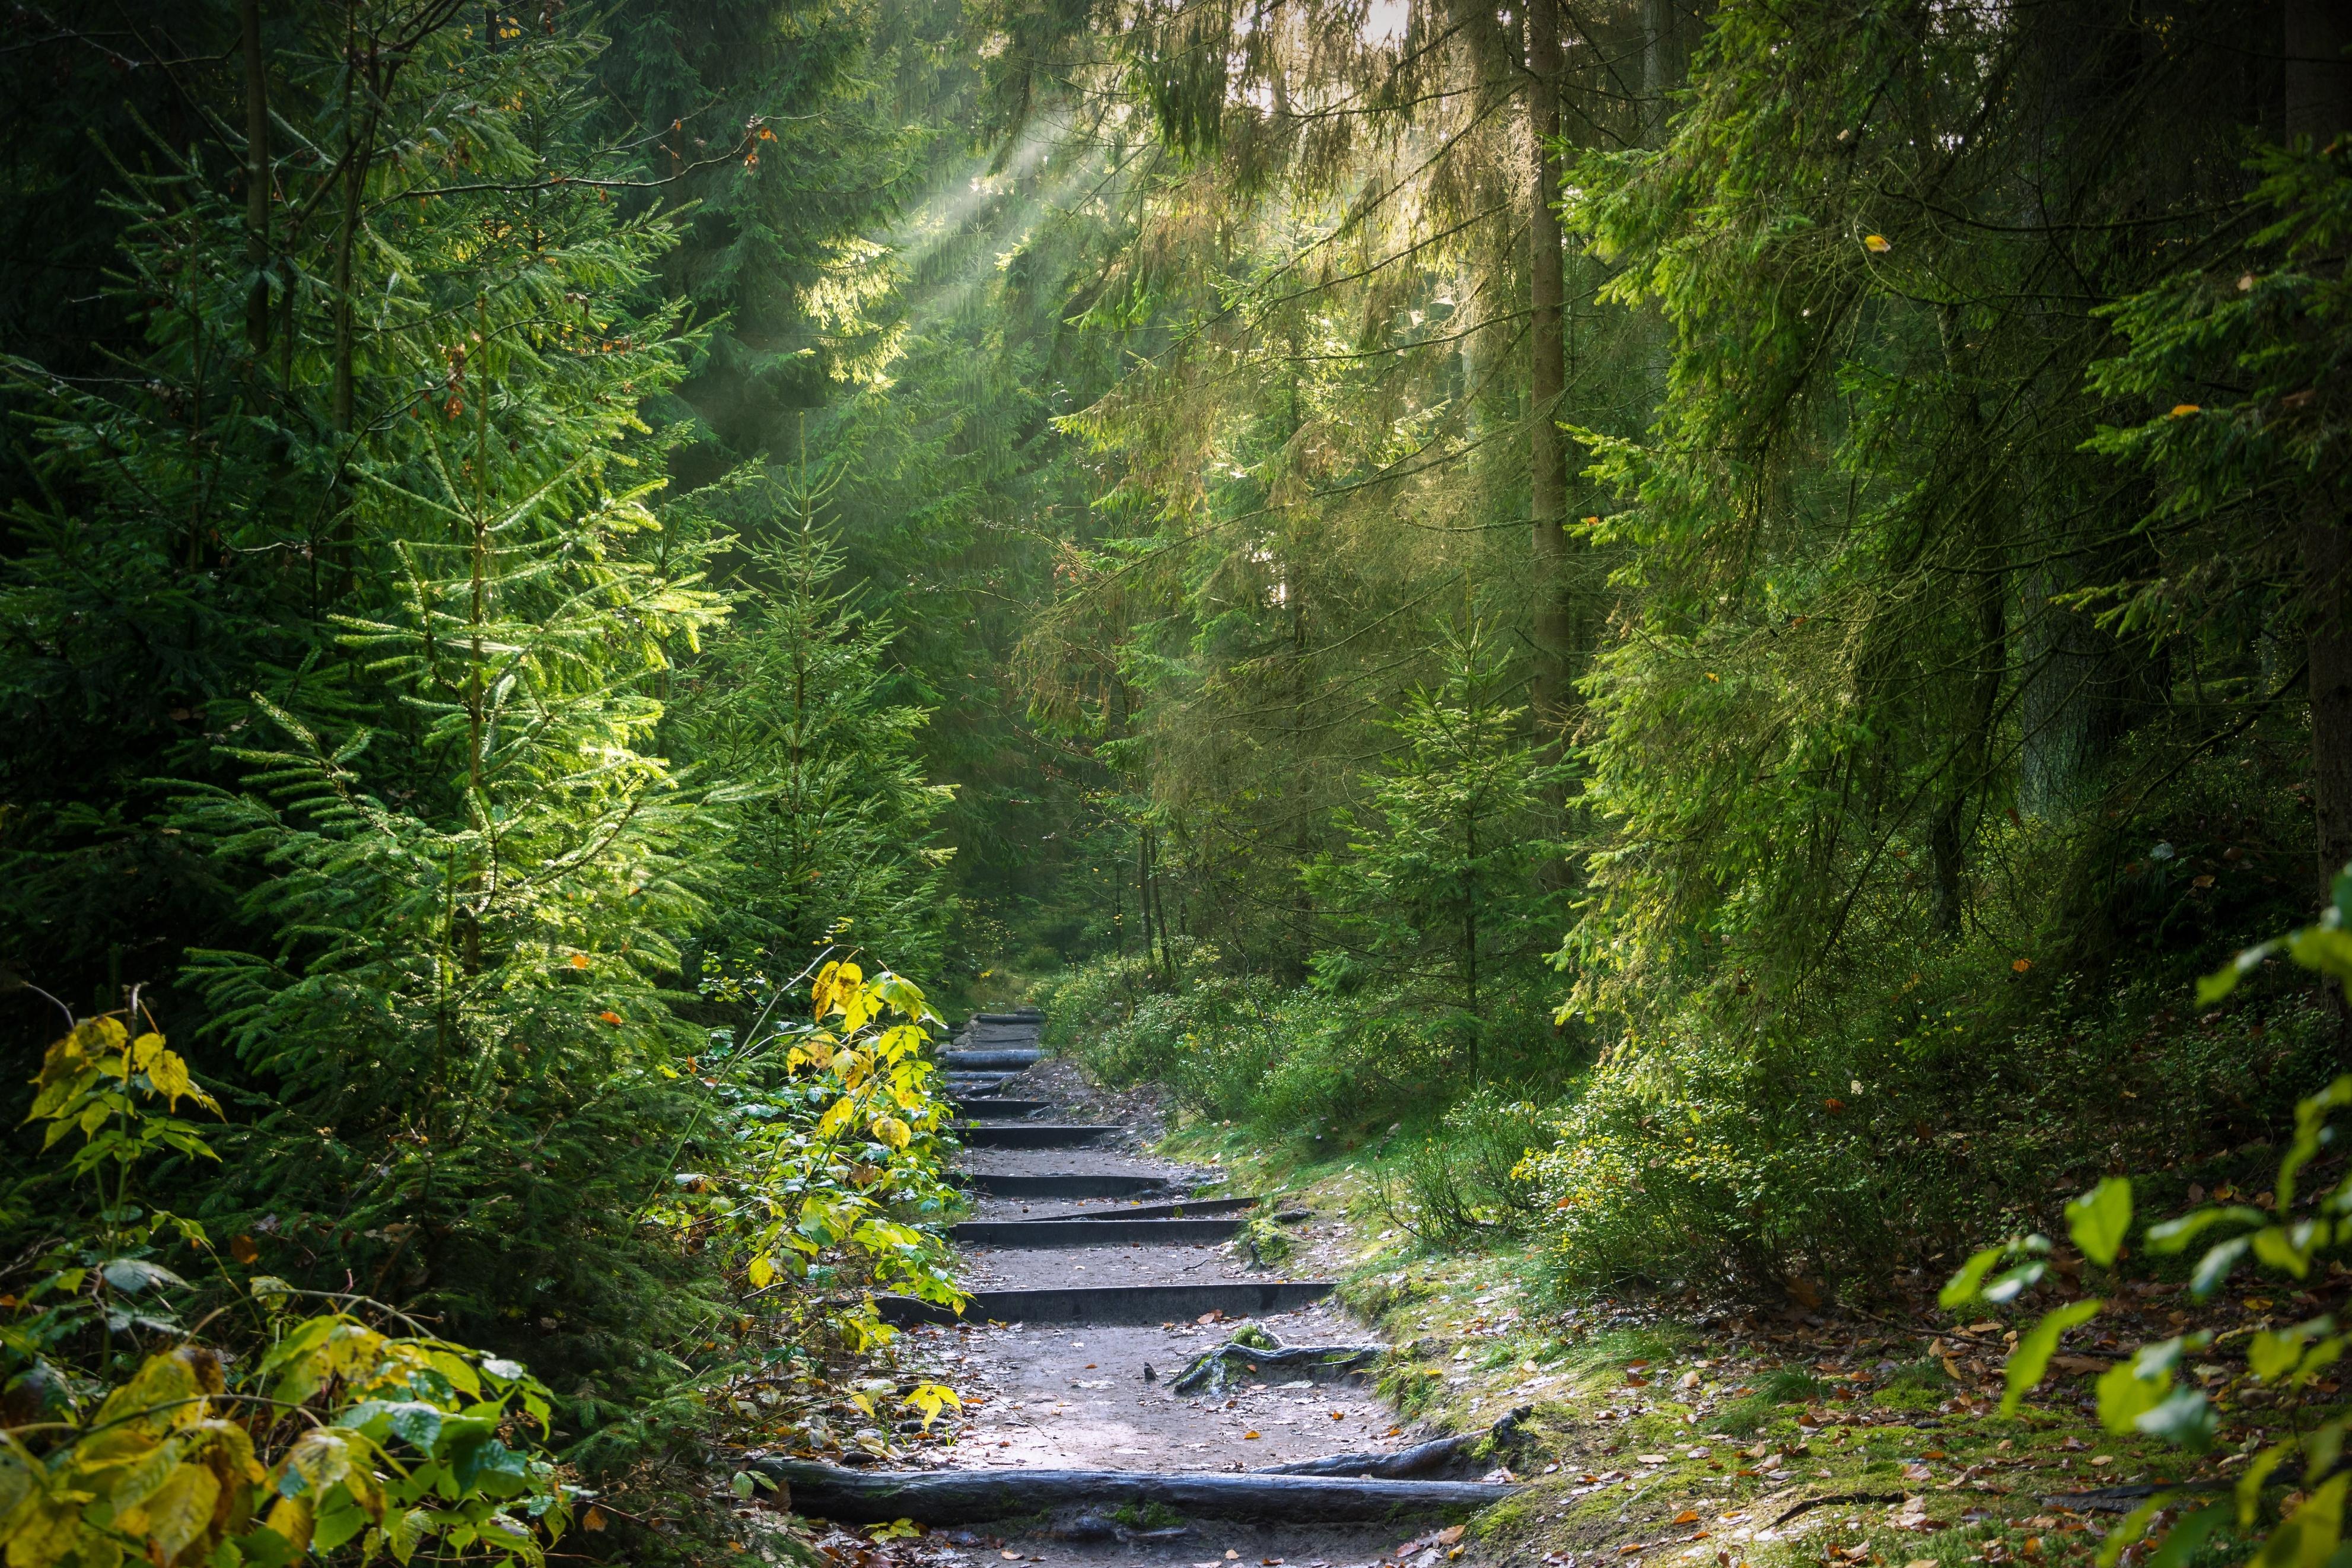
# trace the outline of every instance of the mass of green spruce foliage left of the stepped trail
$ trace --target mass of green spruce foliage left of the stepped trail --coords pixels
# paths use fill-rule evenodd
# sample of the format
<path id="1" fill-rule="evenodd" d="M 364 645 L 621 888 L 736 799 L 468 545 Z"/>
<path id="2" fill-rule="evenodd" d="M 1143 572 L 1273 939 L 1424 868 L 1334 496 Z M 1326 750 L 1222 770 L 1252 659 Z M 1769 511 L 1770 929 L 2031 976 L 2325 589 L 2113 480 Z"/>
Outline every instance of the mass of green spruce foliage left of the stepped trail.
<path id="1" fill-rule="evenodd" d="M 527 1347 L 564 1389 L 567 1441 L 619 1467 L 708 1427 L 720 1321 L 837 1345 L 811 1305 L 830 1286 L 746 1309 L 729 1265 L 760 1248 L 706 1246 L 710 1213 L 647 1222 L 682 1168 L 757 1206 L 830 1206 L 842 1227 L 816 1225 L 804 1260 L 818 1281 L 943 1288 L 915 1039 L 882 1074 L 915 1100 L 877 1119 L 908 1128 L 873 1145 L 887 1159 L 875 1121 L 802 1159 L 790 1140 L 823 1105 L 779 1128 L 736 1114 L 790 1077 L 760 1009 L 807 978 L 811 936 L 938 952 L 922 710 L 889 689 L 891 630 L 828 588 L 830 545 L 804 517 L 776 527 L 774 487 L 706 463 L 708 428 L 677 402 L 715 353 L 682 299 L 710 299 L 708 277 L 680 287 L 708 214 L 670 200 L 668 148 L 607 134 L 612 82 L 656 92 L 659 26 L 633 12 L 616 54 L 583 12 L 485 38 L 447 5 L 261 9 L 270 148 L 230 129 L 235 7 L 155 19 L 200 61 L 181 89 L 202 110 L 172 139 L 129 125 L 106 143 L 113 280 L 89 292 L 118 362 L 5 367 L 31 468 L 9 470 L 0 552 L 0 710 L 24 741 L 0 759 L 0 945 L 68 997 L 113 1006 L 136 980 L 169 1001 L 230 1121 L 198 1140 L 169 1114 L 186 1074 L 155 1034 L 61 1070 L 45 1114 L 94 1117 L 94 1168 L 9 1157 L 0 1218 L 49 1281 L 12 1281 L 35 1302 L 19 1349 L 64 1366 L 115 1335 L 129 1354 L 179 1319 L 176 1291 L 216 1288 L 181 1286 L 174 1248 L 226 1269 L 226 1239 L 294 1286 Z M 804 209 L 804 181 L 781 205 L 760 181 L 783 174 L 779 143 L 802 160 L 837 132 L 767 127 L 818 52 L 762 31 L 779 12 L 729 9 L 760 33 L 715 61 L 743 113 L 677 141 L 701 139 L 691 179 L 736 181 L 731 212 Z M 811 89 L 903 141 L 854 71 L 858 19 L 818 31 L 833 56 Z M 809 237 L 795 289 L 854 266 L 828 252 L 840 233 Z M 793 649 L 833 705 L 748 712 Z M 734 733 L 696 708 L 727 682 Z M 776 799 L 814 856 L 790 875 L 826 879 L 753 865 L 783 832 L 760 820 Z M 734 978 L 703 964 L 739 938 L 774 952 Z M 774 1084 L 720 1074 L 736 1056 Z M 153 1161 L 174 1213 L 125 1185 L 122 1157 Z"/>

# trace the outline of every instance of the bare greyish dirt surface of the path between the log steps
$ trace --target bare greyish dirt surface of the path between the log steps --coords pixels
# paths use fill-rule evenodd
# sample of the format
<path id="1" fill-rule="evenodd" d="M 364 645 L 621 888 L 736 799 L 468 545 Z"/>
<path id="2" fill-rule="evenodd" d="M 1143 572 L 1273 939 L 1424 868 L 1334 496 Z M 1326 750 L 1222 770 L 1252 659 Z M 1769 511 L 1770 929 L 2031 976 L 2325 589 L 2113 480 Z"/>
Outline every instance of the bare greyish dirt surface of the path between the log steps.
<path id="1" fill-rule="evenodd" d="M 1037 1027 L 1000 1023 L 978 1041 L 988 1051 L 1035 1044 Z M 969 1034 L 964 1041 L 967 1044 Z M 955 1058 L 950 1056 L 950 1065 Z M 985 1093 L 985 1084 L 971 1093 Z M 1098 1124 L 1105 1133 L 1080 1147 L 974 1147 L 964 1157 L 976 1185 L 974 1222 L 1054 1222 L 1091 1227 L 1096 1220 L 1065 1215 L 1122 1215 L 1185 1197 L 1249 1197 L 1225 1192 L 1209 1168 L 1185 1168 L 1145 1152 L 1160 1133 L 1160 1105 L 1148 1095 L 1122 1098 L 1089 1091 L 1065 1063 L 1037 1063 L 997 1091 L 1004 1098 L 1044 1100 L 1049 1110 L 1023 1117 L 1035 1124 Z M 1136 1103 L 1141 1100 L 1141 1103 Z M 993 1180 L 1011 1178 L 1002 1192 Z M 1037 1178 L 1129 1178 L 1152 1182 L 1131 1197 L 1051 1197 Z M 1157 1215 L 1152 1215 L 1157 1220 Z M 1247 1215 L 1225 1213 L 1230 1225 Z M 1197 1222 L 1197 1220 L 1195 1220 Z M 1312 1232 L 1312 1215 L 1291 1215 Z M 1138 1222 L 1122 1232 L 1148 1232 Z M 1035 1234 L 1035 1232 L 1033 1232 Z M 1082 1241 L 1082 1237 L 1068 1237 Z M 1305 1246 L 1298 1262 L 1310 1267 L 1322 1248 Z M 1232 1363 L 1225 1387 L 1178 1394 L 1171 1385 L 1202 1352 L 1225 1345 L 1237 1328 L 1275 1335 L 1282 1345 L 1367 1347 L 1374 1331 L 1352 1321 L 1336 1302 L 1317 1300 L 1289 1312 L 1209 1312 L 1160 1321 L 1101 1321 L 1077 1307 L 1028 1321 L 985 1321 L 993 1293 L 1023 1291 L 1023 1302 L 1058 1300 L 1051 1293 L 1105 1286 L 1240 1286 L 1298 1284 L 1308 1274 L 1256 1267 L 1240 1241 L 1127 1239 L 1091 1246 L 964 1246 L 960 1284 L 976 1293 L 976 1309 L 960 1324 L 920 1324 L 906 1331 L 901 1368 L 931 1373 L 964 1394 L 964 1427 L 953 1446 L 929 1448 L 929 1474 L 938 1472 L 1148 1472 L 1148 1474 L 1247 1474 L 1338 1453 L 1395 1453 L 1428 1432 L 1406 1429 L 1374 1389 L 1374 1368 L 1254 1371 Z M 1044 1295 L 1037 1295 L 1044 1293 Z M 1073 1321 L 1075 1314 L 1075 1321 Z M 1134 1316 L 1105 1309 L 1103 1316 Z M 983 1321 L 971 1321 L 983 1319 Z M 1371 1356 L 1367 1356 L 1369 1361 Z M 1315 1371 L 1315 1375 L 1301 1375 Z M 1461 1469 L 1442 1472 L 1456 1479 Z M 938 1523 L 920 1542 L 898 1542 L 894 1561 L 1004 1563 L 1028 1561 L 1063 1568 L 1108 1563 L 1164 1568 L 1174 1563 L 1284 1563 L 1289 1568 L 1352 1568 L 1359 1563 L 1475 1561 L 1456 1549 L 1461 1530 L 1439 1537 L 1444 1519 L 1402 1519 L 1352 1526 L 1268 1526 L 1176 1516 L 1164 1507 L 1061 1507 L 1042 1516 L 993 1523 Z M 1402 1559 L 1399 1559 L 1399 1547 Z"/>

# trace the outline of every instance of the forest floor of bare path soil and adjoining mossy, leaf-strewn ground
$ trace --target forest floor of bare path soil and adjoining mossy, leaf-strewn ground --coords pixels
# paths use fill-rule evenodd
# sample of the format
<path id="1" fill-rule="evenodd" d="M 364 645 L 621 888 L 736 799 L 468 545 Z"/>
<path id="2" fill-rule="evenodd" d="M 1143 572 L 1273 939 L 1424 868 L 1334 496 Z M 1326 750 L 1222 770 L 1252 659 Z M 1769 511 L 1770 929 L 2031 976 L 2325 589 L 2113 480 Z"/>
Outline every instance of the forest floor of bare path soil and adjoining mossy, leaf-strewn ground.
<path id="1" fill-rule="evenodd" d="M 1155 1093 L 1084 1091 L 1068 1063 L 1035 1070 L 1030 1091 L 1084 1105 L 1073 1121 L 1122 1119 L 1141 1124 L 1138 1133 L 1164 1124 Z M 1075 1521 L 1040 1516 L 1025 1528 L 941 1528 L 889 1544 L 842 1530 L 826 1542 L 835 1563 L 2056 1568 L 2089 1561 L 2152 1483 L 2225 1481 L 2270 1436 L 2253 1425 L 2260 1408 L 2246 1408 L 2263 1394 L 2223 1387 L 2232 1378 L 2223 1366 L 2197 1366 L 2194 1375 L 2225 1394 L 2225 1408 L 2234 1401 L 2244 1413 L 2239 1434 L 2253 1441 L 2239 1450 L 2183 1460 L 2152 1439 L 2114 1439 L 2098 1427 L 2089 1378 L 2119 1347 L 2178 1333 L 2178 1286 L 2126 1288 L 2067 1342 L 2037 1401 L 2002 1418 L 2011 1326 L 1940 1321 L 1926 1298 L 1931 1281 L 1907 1281 L 1910 1295 L 1898 1291 L 1870 1312 L 1689 1298 L 1569 1302 L 1548 1288 L 1543 1260 L 1524 1246 L 1421 1248 L 1381 1204 L 1364 1161 L 1296 1164 L 1230 1128 L 1188 1128 L 1152 1150 L 1141 1143 L 971 1159 L 1004 1171 L 1221 1173 L 1221 1192 L 1265 1194 L 1310 1213 L 1284 1227 L 1291 1251 L 1265 1265 L 1247 1239 L 971 1251 L 967 1281 L 1033 1288 L 1338 1279 L 1331 1300 L 1265 1316 L 1263 1326 L 1284 1342 L 1385 1345 L 1376 1382 L 1171 1394 L 1169 1375 L 1232 1324 L 927 1328 L 898 1340 L 894 1368 L 955 1385 L 967 1410 L 953 1441 L 927 1448 L 922 1465 L 1261 1469 L 1482 1432 L 1531 1406 L 1512 1441 L 1477 1460 L 1477 1469 L 1519 1481 L 1522 1490 L 1465 1528 L 1242 1528 L 1129 1509 Z M 981 1199 L 974 1218 L 1023 1218 L 1023 1204 Z M 2317 1307 L 2307 1293 L 2251 1293 L 2225 1305 L 2223 1338 L 2300 1321 Z M 2213 1324 L 2213 1314 L 2199 1309 L 2199 1321 Z M 1143 1378 L 1145 1366 L 1155 1380 Z"/>

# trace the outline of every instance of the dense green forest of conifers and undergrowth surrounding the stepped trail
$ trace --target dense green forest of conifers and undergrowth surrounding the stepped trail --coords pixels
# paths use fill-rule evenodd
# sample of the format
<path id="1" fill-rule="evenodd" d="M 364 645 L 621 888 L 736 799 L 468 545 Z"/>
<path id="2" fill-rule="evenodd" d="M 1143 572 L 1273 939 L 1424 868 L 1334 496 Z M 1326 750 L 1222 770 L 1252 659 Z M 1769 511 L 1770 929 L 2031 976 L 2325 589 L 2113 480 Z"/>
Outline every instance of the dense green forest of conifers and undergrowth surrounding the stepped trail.
<path id="1" fill-rule="evenodd" d="M 16 5 L 12 1568 L 703 1561 L 731 1380 L 957 1300 L 981 1009 L 1562 1298 L 2284 1215 L 2352 1072 L 2347 49 Z"/>

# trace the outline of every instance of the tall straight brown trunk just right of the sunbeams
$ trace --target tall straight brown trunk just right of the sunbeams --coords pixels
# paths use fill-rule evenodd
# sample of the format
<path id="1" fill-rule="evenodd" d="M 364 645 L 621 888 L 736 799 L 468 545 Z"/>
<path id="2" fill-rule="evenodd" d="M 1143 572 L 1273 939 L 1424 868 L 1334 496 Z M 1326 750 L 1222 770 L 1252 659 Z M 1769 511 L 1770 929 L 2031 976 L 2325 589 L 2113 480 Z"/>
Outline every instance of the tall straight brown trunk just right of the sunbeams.
<path id="1" fill-rule="evenodd" d="M 1569 451 L 1559 435 L 1559 397 L 1566 390 L 1566 313 L 1559 259 L 1559 0 L 1526 7 L 1526 139 L 1534 190 L 1529 193 L 1529 512 L 1534 515 L 1536 569 L 1536 724 L 1557 733 L 1569 710 L 1569 658 L 1573 621 L 1566 597 Z"/>

